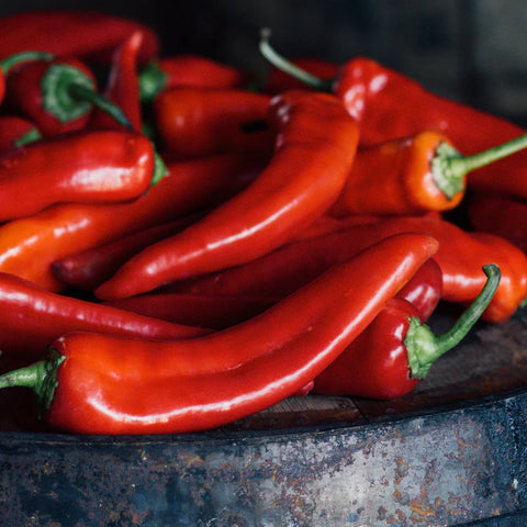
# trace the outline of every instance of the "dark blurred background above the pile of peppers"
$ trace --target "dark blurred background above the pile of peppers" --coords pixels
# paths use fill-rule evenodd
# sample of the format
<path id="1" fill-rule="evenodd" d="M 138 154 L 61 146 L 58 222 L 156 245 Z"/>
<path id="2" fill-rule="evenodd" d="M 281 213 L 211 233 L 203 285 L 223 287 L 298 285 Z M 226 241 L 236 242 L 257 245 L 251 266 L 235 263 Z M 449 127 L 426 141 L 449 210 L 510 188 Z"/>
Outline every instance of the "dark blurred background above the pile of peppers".
<path id="1" fill-rule="evenodd" d="M 527 123 L 527 2 L 516 0 L 19 0 L 34 8 L 91 9 L 155 29 L 162 54 L 198 53 L 267 70 L 258 32 L 285 56 L 344 63 L 356 55 L 412 76 L 439 94 Z"/>

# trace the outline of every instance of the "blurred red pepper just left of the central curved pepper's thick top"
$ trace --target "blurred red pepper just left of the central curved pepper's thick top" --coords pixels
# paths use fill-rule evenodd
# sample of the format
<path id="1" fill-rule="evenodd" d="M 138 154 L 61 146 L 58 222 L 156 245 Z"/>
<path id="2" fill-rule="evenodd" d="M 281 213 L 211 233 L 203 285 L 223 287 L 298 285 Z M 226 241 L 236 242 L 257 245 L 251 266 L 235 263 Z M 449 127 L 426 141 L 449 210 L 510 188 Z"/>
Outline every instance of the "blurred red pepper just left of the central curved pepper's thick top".
<path id="1" fill-rule="evenodd" d="M 154 101 L 154 120 L 168 159 L 194 158 L 222 152 L 272 155 L 274 133 L 246 132 L 246 122 L 269 111 L 268 96 L 246 90 L 172 88 Z"/>

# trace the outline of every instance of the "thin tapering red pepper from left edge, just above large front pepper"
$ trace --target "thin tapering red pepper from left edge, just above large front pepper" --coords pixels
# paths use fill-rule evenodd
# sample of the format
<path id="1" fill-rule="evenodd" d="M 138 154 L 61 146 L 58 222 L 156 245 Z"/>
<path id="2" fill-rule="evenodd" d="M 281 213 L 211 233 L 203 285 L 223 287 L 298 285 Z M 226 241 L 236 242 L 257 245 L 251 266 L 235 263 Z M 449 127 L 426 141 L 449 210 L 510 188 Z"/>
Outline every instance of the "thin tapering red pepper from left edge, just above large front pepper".
<path id="1" fill-rule="evenodd" d="M 36 360 L 66 333 L 96 332 L 142 338 L 187 338 L 208 333 L 130 311 L 45 291 L 14 274 L 0 272 L 2 352 Z"/>

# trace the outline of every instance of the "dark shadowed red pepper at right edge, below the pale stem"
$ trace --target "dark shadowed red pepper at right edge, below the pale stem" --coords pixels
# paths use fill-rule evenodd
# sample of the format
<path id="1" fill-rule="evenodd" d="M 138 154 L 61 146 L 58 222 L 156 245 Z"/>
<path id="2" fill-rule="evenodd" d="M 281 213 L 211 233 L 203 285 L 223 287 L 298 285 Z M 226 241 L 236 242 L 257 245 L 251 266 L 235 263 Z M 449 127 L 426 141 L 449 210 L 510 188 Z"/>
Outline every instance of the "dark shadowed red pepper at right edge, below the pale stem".
<path id="1" fill-rule="evenodd" d="M 527 253 L 527 203 L 474 192 L 468 216 L 472 228 L 501 236 Z"/>

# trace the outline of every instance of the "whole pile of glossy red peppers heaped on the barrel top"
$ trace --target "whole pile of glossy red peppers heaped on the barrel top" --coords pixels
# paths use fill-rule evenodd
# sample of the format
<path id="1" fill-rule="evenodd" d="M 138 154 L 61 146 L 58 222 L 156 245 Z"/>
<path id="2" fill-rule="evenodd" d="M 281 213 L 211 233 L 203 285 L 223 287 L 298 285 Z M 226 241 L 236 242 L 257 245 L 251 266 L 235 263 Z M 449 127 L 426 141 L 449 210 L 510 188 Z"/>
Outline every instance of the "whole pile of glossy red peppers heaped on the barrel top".
<path id="1" fill-rule="evenodd" d="M 266 79 L 136 21 L 0 19 L 0 388 L 48 430 L 400 397 L 525 302 L 524 130 L 369 58 L 255 53 Z"/>

